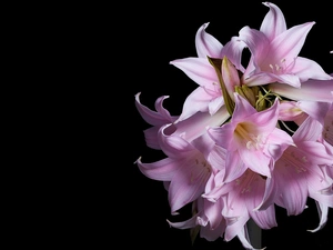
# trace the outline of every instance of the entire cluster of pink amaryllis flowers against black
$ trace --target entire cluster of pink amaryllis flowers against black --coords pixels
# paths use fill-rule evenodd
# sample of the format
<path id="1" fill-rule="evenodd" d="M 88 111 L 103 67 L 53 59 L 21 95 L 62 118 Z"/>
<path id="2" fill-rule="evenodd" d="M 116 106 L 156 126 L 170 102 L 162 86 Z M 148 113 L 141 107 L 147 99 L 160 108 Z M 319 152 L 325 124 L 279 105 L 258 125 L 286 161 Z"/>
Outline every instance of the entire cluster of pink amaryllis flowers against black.
<path id="1" fill-rule="evenodd" d="M 259 30 L 243 27 L 223 46 L 203 23 L 198 57 L 170 62 L 198 83 L 179 116 L 163 107 L 169 96 L 158 98 L 155 110 L 135 96 L 150 124 L 147 146 L 165 154 L 135 163 L 164 183 L 172 214 L 193 208 L 191 218 L 169 224 L 200 228 L 209 241 L 238 237 L 245 249 L 254 249 L 246 222 L 278 227 L 275 206 L 296 216 L 313 199 L 320 220 L 312 232 L 333 208 L 333 74 L 299 56 L 314 22 L 287 29 L 278 6 L 263 4 L 269 11 Z"/>

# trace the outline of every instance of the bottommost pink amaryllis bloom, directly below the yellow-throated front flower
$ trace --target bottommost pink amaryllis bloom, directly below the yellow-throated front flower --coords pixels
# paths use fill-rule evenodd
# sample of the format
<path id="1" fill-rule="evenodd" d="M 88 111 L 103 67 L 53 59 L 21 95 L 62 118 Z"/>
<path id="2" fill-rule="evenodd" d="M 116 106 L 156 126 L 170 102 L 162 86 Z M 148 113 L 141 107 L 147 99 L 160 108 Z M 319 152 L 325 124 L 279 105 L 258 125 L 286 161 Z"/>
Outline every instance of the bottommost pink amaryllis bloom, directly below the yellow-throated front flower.
<path id="1" fill-rule="evenodd" d="M 250 243 L 245 227 L 249 219 L 252 218 L 262 229 L 278 226 L 273 204 L 262 211 L 255 210 L 262 202 L 264 189 L 265 178 L 246 169 L 242 176 L 228 183 L 214 182 L 214 188 L 202 196 L 215 202 L 223 200 L 222 216 L 226 221 L 224 233 L 226 241 L 238 236 L 244 248 L 254 249 Z"/>

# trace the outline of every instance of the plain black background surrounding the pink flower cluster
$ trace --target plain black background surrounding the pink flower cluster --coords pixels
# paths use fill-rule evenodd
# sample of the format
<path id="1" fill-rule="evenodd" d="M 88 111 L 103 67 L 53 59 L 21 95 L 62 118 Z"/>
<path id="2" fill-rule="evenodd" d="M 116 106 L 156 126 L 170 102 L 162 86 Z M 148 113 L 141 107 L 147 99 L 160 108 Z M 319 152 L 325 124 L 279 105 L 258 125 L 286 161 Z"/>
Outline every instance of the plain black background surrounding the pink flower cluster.
<path id="1" fill-rule="evenodd" d="M 333 72 L 327 1 L 274 2 L 289 28 L 316 22 L 301 56 Z M 236 238 L 198 238 L 192 246 L 188 230 L 169 227 L 167 219 L 173 218 L 162 183 L 134 164 L 139 157 L 144 162 L 163 158 L 145 146 L 149 124 L 135 109 L 134 94 L 141 92 L 151 109 L 159 97 L 170 96 L 164 107 L 180 114 L 196 83 L 169 62 L 196 57 L 194 38 L 203 23 L 210 22 L 206 32 L 225 44 L 244 26 L 259 29 L 269 8 L 256 0 L 12 7 L 3 9 L 2 36 L 3 73 L 12 83 L 12 91 L 3 91 L 3 110 L 14 107 L 3 119 L 13 127 L 3 133 L 9 137 L 3 157 L 10 162 L 3 170 L 13 173 L 2 178 L 9 197 L 2 200 L 3 241 L 16 249 L 243 250 Z M 306 232 L 319 223 L 312 200 L 296 217 L 276 209 L 279 227 L 263 231 L 263 247 L 329 249 L 332 209 L 316 233 Z M 189 217 L 188 208 L 183 212 L 178 219 Z"/>

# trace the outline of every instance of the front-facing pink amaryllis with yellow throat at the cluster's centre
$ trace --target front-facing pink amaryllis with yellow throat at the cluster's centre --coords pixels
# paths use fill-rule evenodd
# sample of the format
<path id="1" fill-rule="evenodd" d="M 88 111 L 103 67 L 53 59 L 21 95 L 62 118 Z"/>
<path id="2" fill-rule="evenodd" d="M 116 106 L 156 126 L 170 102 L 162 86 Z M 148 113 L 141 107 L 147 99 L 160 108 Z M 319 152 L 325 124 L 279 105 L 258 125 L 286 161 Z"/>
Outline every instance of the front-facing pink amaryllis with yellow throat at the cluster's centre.
<path id="1" fill-rule="evenodd" d="M 292 138 L 276 128 L 279 101 L 258 112 L 246 99 L 234 93 L 235 110 L 231 121 L 219 128 L 210 128 L 209 134 L 226 150 L 225 182 L 239 178 L 249 168 L 271 177 L 274 161 L 279 159 Z"/>

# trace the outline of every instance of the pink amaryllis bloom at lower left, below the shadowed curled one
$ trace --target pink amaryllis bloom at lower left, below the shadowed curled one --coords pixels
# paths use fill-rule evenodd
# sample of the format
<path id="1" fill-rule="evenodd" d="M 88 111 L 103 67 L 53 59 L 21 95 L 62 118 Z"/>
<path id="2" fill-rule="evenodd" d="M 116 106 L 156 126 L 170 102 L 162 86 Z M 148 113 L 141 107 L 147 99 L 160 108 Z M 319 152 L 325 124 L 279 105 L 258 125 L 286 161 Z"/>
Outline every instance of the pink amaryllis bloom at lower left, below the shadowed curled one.
<path id="1" fill-rule="evenodd" d="M 214 142 L 206 133 L 191 142 L 179 136 L 167 136 L 163 133 L 167 128 L 163 126 L 159 131 L 159 144 L 167 158 L 152 163 L 144 163 L 140 158 L 137 163 L 144 176 L 168 182 L 171 213 L 175 214 L 203 193 L 214 173 L 206 160 Z"/>

